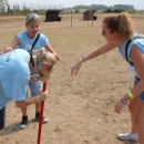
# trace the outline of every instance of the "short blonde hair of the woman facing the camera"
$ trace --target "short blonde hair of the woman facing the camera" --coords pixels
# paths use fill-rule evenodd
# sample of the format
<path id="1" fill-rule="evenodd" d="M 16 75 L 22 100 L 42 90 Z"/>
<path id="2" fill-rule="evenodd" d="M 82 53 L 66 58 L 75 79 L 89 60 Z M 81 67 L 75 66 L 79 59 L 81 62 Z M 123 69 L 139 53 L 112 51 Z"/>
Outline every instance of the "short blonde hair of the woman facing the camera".
<path id="1" fill-rule="evenodd" d="M 35 21 L 40 22 L 40 17 L 37 13 L 29 13 L 25 18 L 25 24 L 33 23 Z"/>

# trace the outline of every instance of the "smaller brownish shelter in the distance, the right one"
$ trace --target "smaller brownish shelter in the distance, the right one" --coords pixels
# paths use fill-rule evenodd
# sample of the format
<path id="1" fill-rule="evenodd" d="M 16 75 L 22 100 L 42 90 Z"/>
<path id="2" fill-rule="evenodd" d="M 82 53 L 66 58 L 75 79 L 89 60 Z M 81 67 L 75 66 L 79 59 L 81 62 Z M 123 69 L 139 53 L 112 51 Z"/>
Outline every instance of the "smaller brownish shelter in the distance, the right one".
<path id="1" fill-rule="evenodd" d="M 94 13 L 96 10 L 86 10 L 83 12 L 83 20 L 96 20 L 96 16 Z"/>

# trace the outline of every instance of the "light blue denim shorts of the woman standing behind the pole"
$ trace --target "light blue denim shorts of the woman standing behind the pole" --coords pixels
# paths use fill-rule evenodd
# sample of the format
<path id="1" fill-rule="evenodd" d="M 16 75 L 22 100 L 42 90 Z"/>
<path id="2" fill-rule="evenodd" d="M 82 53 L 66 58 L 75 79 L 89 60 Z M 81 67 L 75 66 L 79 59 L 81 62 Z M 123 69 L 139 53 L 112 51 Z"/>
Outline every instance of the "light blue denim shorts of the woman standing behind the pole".
<path id="1" fill-rule="evenodd" d="M 40 81 L 29 83 L 29 88 L 30 88 L 30 91 L 31 91 L 31 96 L 33 97 L 33 96 L 38 95 L 42 91 L 43 83 L 40 82 Z"/>

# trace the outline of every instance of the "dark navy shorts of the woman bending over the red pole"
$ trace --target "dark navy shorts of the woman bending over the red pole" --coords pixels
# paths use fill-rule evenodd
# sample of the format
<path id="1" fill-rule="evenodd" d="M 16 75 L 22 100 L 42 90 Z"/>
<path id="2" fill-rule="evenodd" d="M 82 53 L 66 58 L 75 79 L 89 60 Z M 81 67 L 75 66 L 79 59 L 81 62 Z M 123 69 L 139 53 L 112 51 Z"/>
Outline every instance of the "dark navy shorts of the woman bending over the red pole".
<path id="1" fill-rule="evenodd" d="M 6 123 L 6 106 L 0 110 L 0 130 L 4 127 Z"/>

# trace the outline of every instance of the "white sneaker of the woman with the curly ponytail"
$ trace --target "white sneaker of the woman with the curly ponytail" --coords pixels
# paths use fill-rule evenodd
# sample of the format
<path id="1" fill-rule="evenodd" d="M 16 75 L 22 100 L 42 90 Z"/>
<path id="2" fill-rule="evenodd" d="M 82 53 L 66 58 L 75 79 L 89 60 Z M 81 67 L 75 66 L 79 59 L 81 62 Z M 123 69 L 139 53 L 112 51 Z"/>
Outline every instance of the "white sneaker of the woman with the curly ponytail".
<path id="1" fill-rule="evenodd" d="M 117 138 L 123 140 L 123 141 L 138 142 L 138 134 L 137 133 L 132 133 L 130 131 L 130 132 L 127 132 L 125 134 L 119 134 Z"/>

